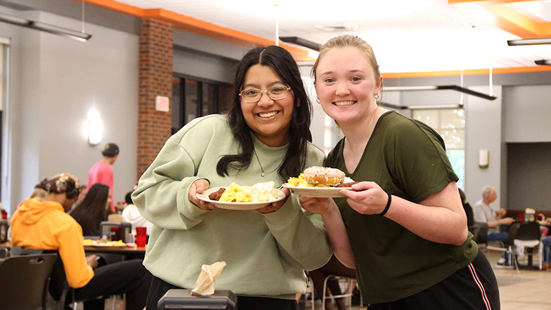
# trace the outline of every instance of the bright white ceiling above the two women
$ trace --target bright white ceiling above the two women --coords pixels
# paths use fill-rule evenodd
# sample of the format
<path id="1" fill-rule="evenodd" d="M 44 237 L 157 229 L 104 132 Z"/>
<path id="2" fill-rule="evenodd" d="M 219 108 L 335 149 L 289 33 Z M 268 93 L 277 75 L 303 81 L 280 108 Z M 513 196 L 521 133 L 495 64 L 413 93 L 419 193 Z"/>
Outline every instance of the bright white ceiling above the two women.
<path id="1" fill-rule="evenodd" d="M 275 41 L 302 37 L 324 43 L 355 34 L 373 45 L 382 72 L 428 72 L 535 66 L 551 45 L 508 46 L 519 39 L 498 28 L 478 3 L 447 0 L 117 0 L 172 12 Z M 279 6 L 273 6 L 278 3 Z M 551 1 L 508 3 L 535 21 L 551 20 Z M 315 26 L 346 28 L 327 31 Z"/>

